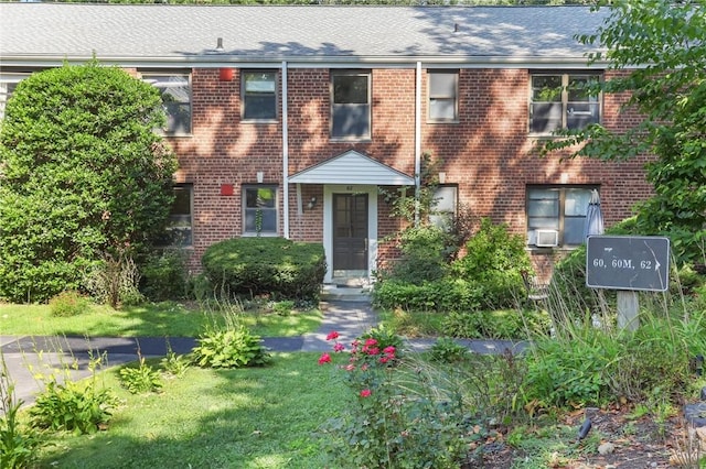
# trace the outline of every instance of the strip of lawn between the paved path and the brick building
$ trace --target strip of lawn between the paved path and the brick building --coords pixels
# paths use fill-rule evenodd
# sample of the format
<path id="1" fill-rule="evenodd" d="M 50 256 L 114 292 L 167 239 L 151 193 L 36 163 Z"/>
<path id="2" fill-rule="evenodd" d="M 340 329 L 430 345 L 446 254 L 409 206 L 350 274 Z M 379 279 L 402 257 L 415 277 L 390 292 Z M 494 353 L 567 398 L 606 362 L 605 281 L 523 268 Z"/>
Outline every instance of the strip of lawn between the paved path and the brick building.
<path id="1" fill-rule="evenodd" d="M 232 309 L 232 308 L 231 308 Z M 49 305 L 0 304 L 0 334 L 7 336 L 87 337 L 195 337 L 204 327 L 221 321 L 232 312 L 186 307 L 178 303 L 146 304 L 116 310 L 92 305 L 77 316 L 52 316 Z M 321 324 L 319 309 L 282 316 L 257 309 L 238 313 L 254 335 L 293 337 L 315 330 Z"/>

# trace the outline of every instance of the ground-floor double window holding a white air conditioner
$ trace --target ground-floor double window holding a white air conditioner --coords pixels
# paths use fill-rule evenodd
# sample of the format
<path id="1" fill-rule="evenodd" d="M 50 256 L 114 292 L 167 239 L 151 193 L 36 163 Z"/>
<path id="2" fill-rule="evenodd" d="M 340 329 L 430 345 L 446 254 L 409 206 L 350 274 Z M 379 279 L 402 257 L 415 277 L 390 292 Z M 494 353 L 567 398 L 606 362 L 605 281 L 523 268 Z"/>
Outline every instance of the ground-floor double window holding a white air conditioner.
<path id="1" fill-rule="evenodd" d="M 527 244 L 537 248 L 584 243 L 586 211 L 597 186 L 527 186 Z"/>

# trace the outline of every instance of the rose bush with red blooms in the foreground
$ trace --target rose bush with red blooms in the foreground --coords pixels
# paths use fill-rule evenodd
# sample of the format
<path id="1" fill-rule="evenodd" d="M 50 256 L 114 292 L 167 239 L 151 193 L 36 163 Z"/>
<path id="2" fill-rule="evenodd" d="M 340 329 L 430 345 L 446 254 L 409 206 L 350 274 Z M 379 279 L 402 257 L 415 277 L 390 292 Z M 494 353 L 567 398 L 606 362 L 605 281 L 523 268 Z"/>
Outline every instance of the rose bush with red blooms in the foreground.
<path id="1" fill-rule="evenodd" d="M 359 337 L 350 348 L 335 331 L 327 337 L 333 355 L 322 353 L 319 364 L 347 352 L 338 369 L 353 391 L 341 417 L 321 428 L 327 454 L 336 467 L 458 468 L 468 450 L 461 401 L 435 399 L 439 394 L 417 363 L 400 358 L 399 338 L 375 336 Z"/>

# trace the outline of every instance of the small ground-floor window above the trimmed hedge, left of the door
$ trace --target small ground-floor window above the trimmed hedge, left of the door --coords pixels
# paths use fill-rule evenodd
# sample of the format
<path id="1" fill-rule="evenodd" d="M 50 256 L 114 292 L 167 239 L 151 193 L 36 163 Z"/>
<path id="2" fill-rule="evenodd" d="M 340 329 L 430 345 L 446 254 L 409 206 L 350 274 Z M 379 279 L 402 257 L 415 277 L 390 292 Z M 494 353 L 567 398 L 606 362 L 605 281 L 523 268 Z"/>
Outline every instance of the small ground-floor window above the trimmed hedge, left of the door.
<path id="1" fill-rule="evenodd" d="M 243 234 L 277 236 L 277 187 L 243 187 Z"/>

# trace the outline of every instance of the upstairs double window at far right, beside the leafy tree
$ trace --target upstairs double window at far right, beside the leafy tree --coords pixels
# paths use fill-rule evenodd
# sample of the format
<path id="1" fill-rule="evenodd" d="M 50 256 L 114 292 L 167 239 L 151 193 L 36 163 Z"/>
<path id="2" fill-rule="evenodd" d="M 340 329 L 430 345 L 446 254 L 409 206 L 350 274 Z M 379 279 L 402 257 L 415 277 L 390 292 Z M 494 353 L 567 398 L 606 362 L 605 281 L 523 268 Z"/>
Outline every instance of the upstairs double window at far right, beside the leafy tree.
<path id="1" fill-rule="evenodd" d="M 533 74 L 530 133 L 549 134 L 600 122 L 600 96 L 587 89 L 598 79 L 587 74 Z"/>

